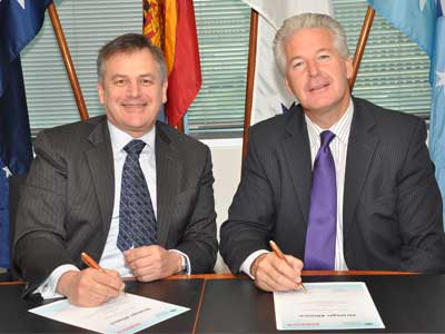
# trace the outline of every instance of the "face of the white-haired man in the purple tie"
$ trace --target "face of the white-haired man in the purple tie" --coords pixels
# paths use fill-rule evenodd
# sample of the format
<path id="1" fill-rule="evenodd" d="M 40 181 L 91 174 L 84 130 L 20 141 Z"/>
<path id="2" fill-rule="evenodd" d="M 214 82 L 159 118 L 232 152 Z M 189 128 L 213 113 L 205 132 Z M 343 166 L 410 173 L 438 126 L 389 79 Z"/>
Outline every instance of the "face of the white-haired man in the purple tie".
<path id="1" fill-rule="evenodd" d="M 305 28 L 285 41 L 286 86 L 315 119 L 338 120 L 349 104 L 350 59 L 344 59 L 324 28 Z M 312 117 L 313 116 L 313 117 Z"/>

